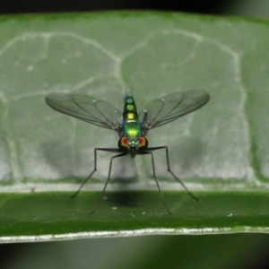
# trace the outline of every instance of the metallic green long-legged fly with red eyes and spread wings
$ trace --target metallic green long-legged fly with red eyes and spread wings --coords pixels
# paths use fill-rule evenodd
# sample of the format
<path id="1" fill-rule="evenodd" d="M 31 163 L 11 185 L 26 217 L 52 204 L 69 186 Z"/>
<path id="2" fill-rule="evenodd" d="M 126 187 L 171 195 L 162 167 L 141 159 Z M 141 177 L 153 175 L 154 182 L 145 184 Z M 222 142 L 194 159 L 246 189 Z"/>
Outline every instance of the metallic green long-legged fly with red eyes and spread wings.
<path id="1" fill-rule="evenodd" d="M 91 211 L 94 213 L 100 205 L 102 197 L 105 193 L 108 181 L 110 179 L 112 161 L 115 158 L 130 154 L 132 158 L 136 154 L 150 154 L 152 156 L 152 172 L 153 178 L 156 181 L 159 193 L 161 195 L 162 203 L 164 204 L 168 213 L 171 214 L 165 200 L 161 194 L 161 188 L 157 181 L 154 168 L 154 151 L 164 149 L 166 151 L 166 161 L 169 173 L 178 180 L 189 195 L 196 201 L 198 199 L 187 187 L 177 178 L 169 167 L 169 149 L 167 146 L 148 147 L 148 141 L 145 138 L 147 133 L 156 127 L 163 126 L 169 122 L 176 120 L 198 108 L 203 107 L 210 99 L 206 91 L 186 91 L 175 92 L 162 97 L 161 99 L 153 100 L 145 106 L 140 113 L 134 102 L 134 96 L 131 93 L 126 93 L 123 110 L 115 108 L 113 105 L 102 100 L 96 100 L 90 96 L 82 94 L 67 94 L 67 93 L 51 93 L 46 97 L 46 102 L 50 108 L 55 109 L 71 117 L 79 118 L 95 126 L 100 126 L 117 132 L 119 140 L 118 148 L 95 148 L 94 149 L 94 169 L 90 176 L 86 178 L 81 187 L 71 197 L 77 195 L 82 189 L 83 185 L 91 178 L 93 173 L 97 170 L 97 152 L 116 152 L 110 159 L 108 169 L 108 179 L 103 187 L 100 195 L 100 200 L 95 208 Z M 91 214 L 90 213 L 90 214 Z"/>

